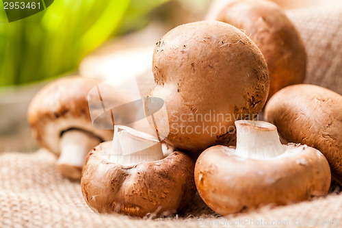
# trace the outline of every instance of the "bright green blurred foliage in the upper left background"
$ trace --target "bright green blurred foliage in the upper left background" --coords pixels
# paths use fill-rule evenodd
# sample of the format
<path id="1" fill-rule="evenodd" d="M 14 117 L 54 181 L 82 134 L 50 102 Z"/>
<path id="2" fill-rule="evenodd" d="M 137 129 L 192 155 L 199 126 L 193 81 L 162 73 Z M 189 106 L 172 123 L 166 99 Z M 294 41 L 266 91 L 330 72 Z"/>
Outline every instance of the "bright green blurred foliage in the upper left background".
<path id="1" fill-rule="evenodd" d="M 46 10 L 12 23 L 0 10 L 0 86 L 75 71 L 105 40 L 144 27 L 149 13 L 166 1 L 55 0 Z"/>

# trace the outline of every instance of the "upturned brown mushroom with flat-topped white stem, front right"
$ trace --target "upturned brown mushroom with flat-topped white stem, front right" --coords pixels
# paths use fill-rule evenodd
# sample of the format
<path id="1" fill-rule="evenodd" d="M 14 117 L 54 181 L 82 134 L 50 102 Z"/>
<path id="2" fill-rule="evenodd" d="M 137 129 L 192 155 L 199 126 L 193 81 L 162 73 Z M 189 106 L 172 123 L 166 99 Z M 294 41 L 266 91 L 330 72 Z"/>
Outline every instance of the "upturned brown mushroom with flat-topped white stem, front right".
<path id="1" fill-rule="evenodd" d="M 271 123 L 236 121 L 235 125 L 236 149 L 211 147 L 195 166 L 200 197 L 215 212 L 225 216 L 328 193 L 330 168 L 319 151 L 281 144 Z"/>

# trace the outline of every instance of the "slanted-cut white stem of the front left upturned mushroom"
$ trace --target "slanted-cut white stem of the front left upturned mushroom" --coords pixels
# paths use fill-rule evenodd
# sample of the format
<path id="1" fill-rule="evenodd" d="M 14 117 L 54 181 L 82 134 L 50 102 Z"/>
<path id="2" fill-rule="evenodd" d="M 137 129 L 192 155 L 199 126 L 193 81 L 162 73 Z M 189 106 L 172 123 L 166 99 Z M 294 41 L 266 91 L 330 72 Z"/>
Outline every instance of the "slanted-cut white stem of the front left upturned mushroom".
<path id="1" fill-rule="evenodd" d="M 131 166 L 163 159 L 157 138 L 130 127 L 116 125 L 109 162 Z"/>

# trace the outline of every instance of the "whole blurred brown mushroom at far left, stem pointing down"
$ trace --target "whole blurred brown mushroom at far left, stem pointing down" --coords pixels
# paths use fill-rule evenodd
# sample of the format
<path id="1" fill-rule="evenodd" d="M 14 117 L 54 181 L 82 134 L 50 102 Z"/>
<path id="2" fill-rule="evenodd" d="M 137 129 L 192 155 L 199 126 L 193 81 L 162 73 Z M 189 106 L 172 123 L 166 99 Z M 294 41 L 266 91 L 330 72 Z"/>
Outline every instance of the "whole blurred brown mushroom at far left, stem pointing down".
<path id="1" fill-rule="evenodd" d="M 101 81 L 65 77 L 51 82 L 31 101 L 27 118 L 41 147 L 60 155 L 57 169 L 65 177 L 81 178 L 89 151 L 109 140 L 112 130 L 96 129 L 90 119 L 87 94 Z"/>

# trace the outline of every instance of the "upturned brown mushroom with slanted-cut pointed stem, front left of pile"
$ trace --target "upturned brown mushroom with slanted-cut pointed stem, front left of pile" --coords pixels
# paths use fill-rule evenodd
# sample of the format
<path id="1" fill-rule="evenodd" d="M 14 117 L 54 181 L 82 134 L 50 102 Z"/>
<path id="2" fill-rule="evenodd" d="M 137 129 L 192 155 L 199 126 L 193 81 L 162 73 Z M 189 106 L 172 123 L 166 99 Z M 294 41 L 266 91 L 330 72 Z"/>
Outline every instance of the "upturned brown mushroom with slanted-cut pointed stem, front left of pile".
<path id="1" fill-rule="evenodd" d="M 174 213 L 196 192 L 194 162 L 179 151 L 164 155 L 157 138 L 118 125 L 113 141 L 88 154 L 81 189 L 94 212 L 140 217 Z"/>

